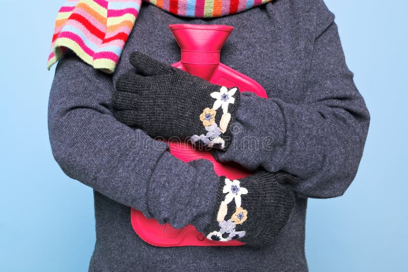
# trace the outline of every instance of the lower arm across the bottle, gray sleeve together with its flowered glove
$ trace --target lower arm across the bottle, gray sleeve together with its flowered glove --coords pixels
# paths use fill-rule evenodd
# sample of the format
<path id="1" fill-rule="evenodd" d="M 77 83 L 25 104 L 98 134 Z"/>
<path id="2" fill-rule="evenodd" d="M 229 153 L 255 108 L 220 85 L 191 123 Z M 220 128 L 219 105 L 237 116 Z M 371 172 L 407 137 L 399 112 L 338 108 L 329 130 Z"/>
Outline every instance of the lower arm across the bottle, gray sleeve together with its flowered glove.
<path id="1" fill-rule="evenodd" d="M 110 75 L 71 52 L 59 62 L 48 127 L 53 154 L 68 176 L 162 224 L 192 224 L 210 239 L 223 234 L 223 241 L 263 246 L 285 226 L 294 206 L 285 184 L 295 178 L 264 172 L 230 181 L 218 177 L 209 160 L 186 164 L 167 144 L 118 122 L 112 90 Z"/>

